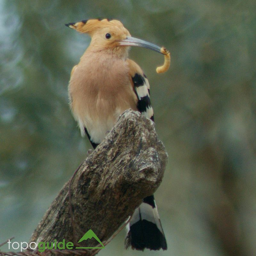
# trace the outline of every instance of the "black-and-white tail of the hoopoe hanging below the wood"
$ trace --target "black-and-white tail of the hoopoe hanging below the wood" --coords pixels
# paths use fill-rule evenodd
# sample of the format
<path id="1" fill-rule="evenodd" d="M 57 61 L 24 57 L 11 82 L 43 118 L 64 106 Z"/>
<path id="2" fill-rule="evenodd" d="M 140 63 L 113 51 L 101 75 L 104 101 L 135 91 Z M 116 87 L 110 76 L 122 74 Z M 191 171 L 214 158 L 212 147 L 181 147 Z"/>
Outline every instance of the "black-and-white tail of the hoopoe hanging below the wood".
<path id="1" fill-rule="evenodd" d="M 153 195 L 145 197 L 143 203 L 135 209 L 127 228 L 126 249 L 131 246 L 132 249 L 140 251 L 145 248 L 167 250 L 164 231 Z"/>

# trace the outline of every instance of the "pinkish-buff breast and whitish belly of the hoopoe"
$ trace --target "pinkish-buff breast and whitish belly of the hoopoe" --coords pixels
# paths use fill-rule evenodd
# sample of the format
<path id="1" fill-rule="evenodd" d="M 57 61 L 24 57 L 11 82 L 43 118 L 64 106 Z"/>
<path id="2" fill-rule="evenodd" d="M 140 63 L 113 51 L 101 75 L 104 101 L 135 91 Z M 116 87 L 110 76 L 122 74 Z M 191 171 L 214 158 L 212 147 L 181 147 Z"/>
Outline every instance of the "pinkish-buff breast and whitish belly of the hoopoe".
<path id="1" fill-rule="evenodd" d="M 124 60 L 111 56 L 83 56 L 69 82 L 71 110 L 81 133 L 84 127 L 100 143 L 124 110 L 136 110 L 137 97 Z"/>

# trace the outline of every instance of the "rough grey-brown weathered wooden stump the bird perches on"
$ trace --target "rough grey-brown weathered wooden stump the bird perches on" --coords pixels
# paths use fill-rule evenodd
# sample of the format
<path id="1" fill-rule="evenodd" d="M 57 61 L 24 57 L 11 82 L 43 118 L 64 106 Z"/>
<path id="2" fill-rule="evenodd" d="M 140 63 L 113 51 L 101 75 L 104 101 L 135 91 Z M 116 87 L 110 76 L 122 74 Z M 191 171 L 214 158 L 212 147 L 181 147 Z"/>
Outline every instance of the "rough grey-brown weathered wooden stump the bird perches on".
<path id="1" fill-rule="evenodd" d="M 107 240 L 161 183 L 167 153 L 154 123 L 127 110 L 105 140 L 81 164 L 70 192 L 75 230 L 69 211 L 69 182 L 36 227 L 30 242 L 77 241 L 92 229 Z M 96 246 L 91 239 L 81 246 Z"/>

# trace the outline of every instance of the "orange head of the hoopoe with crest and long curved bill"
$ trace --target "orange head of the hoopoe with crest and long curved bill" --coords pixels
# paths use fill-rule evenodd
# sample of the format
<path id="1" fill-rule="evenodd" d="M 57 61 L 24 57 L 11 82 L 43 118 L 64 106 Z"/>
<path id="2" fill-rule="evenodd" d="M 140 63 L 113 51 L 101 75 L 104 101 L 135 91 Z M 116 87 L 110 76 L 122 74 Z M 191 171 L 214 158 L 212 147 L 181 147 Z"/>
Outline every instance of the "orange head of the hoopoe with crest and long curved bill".
<path id="1" fill-rule="evenodd" d="M 88 49 L 93 52 L 105 51 L 120 58 L 127 58 L 129 46 L 145 47 L 161 52 L 161 47 L 144 40 L 131 37 L 129 31 L 119 20 L 92 19 L 66 24 L 80 33 L 87 33 L 92 41 Z"/>

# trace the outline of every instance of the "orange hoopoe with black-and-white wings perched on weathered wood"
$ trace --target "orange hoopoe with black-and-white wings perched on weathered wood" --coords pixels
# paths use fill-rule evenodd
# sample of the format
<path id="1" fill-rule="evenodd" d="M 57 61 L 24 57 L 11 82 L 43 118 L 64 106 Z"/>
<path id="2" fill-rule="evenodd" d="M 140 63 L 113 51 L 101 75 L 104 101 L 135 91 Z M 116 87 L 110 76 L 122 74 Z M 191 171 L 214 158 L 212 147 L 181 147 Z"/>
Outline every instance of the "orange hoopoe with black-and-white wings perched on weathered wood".
<path id="1" fill-rule="evenodd" d="M 128 59 L 128 50 L 129 46 L 141 46 L 166 54 L 165 49 L 131 37 L 118 20 L 83 20 L 66 26 L 91 36 L 90 45 L 71 71 L 68 94 L 81 134 L 88 136 L 93 148 L 126 109 L 140 111 L 154 121 L 148 79 L 140 66 Z M 153 195 L 135 209 L 125 244 L 142 251 L 167 249 Z"/>

